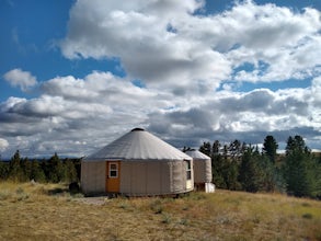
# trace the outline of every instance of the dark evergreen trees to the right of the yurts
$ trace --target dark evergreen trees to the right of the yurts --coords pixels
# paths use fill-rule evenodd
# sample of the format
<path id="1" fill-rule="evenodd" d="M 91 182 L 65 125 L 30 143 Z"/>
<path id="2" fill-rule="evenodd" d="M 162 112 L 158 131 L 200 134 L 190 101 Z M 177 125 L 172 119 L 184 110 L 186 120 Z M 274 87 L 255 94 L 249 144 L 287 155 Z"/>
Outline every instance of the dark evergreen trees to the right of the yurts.
<path id="1" fill-rule="evenodd" d="M 321 199 L 321 156 L 306 146 L 301 136 L 288 137 L 284 154 L 266 136 L 262 150 L 234 140 L 204 142 L 199 151 L 211 158 L 214 183 L 219 188 L 245 192 L 278 192 Z"/>

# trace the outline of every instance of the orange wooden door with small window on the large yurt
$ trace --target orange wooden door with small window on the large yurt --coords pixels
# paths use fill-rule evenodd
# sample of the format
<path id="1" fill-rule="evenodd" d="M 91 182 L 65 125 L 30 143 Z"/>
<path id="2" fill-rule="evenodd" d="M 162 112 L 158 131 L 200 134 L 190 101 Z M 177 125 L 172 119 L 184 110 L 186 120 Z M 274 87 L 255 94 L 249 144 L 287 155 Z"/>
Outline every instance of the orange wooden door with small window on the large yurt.
<path id="1" fill-rule="evenodd" d="M 106 162 L 106 192 L 119 193 L 121 162 Z"/>

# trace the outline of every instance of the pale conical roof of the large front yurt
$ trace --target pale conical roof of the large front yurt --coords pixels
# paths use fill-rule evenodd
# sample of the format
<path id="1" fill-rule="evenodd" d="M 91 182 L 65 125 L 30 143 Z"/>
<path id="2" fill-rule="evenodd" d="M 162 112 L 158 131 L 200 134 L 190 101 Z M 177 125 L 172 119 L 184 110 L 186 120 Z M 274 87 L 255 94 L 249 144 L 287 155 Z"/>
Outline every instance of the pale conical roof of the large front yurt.
<path id="1" fill-rule="evenodd" d="M 192 158 L 142 128 L 135 128 L 84 161 L 191 160 Z"/>

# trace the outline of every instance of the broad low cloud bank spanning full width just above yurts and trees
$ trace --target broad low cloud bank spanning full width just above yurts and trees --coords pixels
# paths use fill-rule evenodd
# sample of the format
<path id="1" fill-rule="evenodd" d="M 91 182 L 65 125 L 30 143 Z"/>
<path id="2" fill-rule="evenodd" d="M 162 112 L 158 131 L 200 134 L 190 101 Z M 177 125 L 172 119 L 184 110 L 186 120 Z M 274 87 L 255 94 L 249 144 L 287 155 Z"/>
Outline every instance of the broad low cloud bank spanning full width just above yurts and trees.
<path id="1" fill-rule="evenodd" d="M 321 131 L 319 82 L 316 78 L 307 89 L 223 90 L 186 99 L 138 88 L 110 72 L 59 77 L 43 82 L 36 99 L 10 97 L 0 104 L 0 135 L 10 144 L 2 151 L 85 156 L 137 126 L 176 147 L 236 138 L 256 144 L 267 134 L 279 141 L 289 135 L 313 140 Z"/>

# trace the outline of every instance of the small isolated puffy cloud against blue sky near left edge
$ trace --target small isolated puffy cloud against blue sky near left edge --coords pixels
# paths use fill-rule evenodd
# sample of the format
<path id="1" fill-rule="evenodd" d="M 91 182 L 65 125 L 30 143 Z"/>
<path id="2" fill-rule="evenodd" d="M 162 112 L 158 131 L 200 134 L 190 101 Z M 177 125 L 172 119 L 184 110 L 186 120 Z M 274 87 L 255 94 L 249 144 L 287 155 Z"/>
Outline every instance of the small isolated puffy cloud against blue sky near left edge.
<path id="1" fill-rule="evenodd" d="M 12 69 L 4 73 L 3 78 L 12 87 L 19 87 L 22 91 L 27 91 L 37 84 L 37 80 L 34 76 L 21 69 Z"/>

